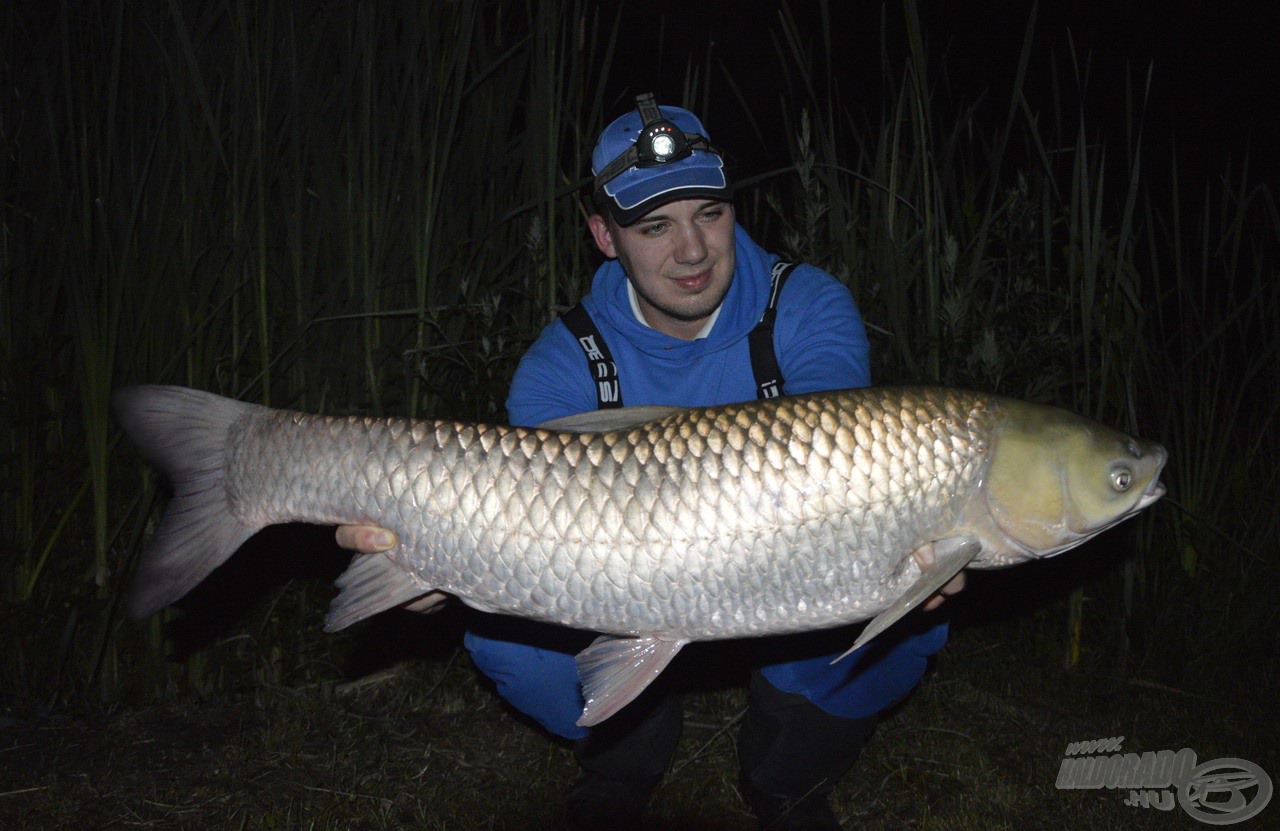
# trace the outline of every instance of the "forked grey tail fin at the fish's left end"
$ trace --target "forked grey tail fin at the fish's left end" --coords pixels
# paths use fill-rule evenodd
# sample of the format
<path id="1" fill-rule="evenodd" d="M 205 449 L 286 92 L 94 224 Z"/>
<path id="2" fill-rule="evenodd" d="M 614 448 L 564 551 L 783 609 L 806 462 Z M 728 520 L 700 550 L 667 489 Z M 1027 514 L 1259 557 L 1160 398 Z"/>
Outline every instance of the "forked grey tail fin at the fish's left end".
<path id="1" fill-rule="evenodd" d="M 184 387 L 128 387 L 111 398 L 115 417 L 173 485 L 173 499 L 142 554 L 129 613 L 146 617 L 209 576 L 257 533 L 228 510 L 227 434 L 255 405 Z"/>

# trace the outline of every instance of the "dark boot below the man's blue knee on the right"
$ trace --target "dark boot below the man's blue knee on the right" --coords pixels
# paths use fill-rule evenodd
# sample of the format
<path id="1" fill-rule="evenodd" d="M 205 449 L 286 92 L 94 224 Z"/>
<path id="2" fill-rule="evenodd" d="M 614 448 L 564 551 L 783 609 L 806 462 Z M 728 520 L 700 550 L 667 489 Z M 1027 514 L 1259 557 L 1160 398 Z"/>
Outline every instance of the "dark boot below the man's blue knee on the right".
<path id="1" fill-rule="evenodd" d="M 751 675 L 739 734 L 742 795 L 768 831 L 838 831 L 827 796 L 852 767 L 876 717 L 832 716 Z"/>

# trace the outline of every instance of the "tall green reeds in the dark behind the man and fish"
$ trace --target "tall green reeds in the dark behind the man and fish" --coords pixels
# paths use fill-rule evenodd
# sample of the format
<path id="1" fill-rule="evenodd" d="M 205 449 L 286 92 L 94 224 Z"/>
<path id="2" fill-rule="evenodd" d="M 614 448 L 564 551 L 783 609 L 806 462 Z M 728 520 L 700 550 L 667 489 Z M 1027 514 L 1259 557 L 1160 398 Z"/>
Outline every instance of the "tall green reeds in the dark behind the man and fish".
<path id="1" fill-rule="evenodd" d="M 326 717 L 328 690 L 376 667 L 370 633 L 398 638 L 390 624 L 320 636 L 326 581 L 282 586 L 276 577 L 230 611 L 209 612 L 211 602 L 196 598 L 188 617 L 204 609 L 212 635 L 183 636 L 180 612 L 123 618 L 119 598 L 163 490 L 120 440 L 110 392 L 179 383 L 312 411 L 500 420 L 515 361 L 585 291 L 595 264 L 584 184 L 594 136 L 626 106 L 605 99 L 616 13 L 586 0 L 27 5 L 36 4 L 0 9 L 0 714 L 29 721 L 287 695 L 294 709 L 310 702 L 315 720 Z M 1206 182 L 1183 181 L 1176 161 L 1153 170 L 1142 100 L 1158 77 L 1106 91 L 1129 104 L 1119 136 L 1068 102 L 1062 91 L 1085 83 L 1074 63 L 1048 67 L 1051 99 L 1032 95 L 1027 74 L 1047 60 L 1032 50 L 1034 19 L 1000 91 L 1007 110 L 996 123 L 980 118 L 946 96 L 946 67 L 925 59 L 915 4 L 905 10 L 887 12 L 884 26 L 905 27 L 909 54 L 892 65 L 886 56 L 884 101 L 867 114 L 814 69 L 831 64 L 831 32 L 801 32 L 783 9 L 776 54 L 762 60 L 776 61 L 791 86 L 792 164 L 742 172 L 741 222 L 847 282 L 872 330 L 878 379 L 1051 401 L 1169 447 L 1161 506 L 1070 556 L 1074 565 L 1027 581 L 1036 586 L 995 577 L 991 585 L 1018 586 L 1010 606 L 1025 617 L 1019 634 L 1014 622 L 988 624 L 993 644 L 1015 643 L 1005 652 L 1025 650 L 1036 666 L 1075 667 L 1061 677 L 1079 695 L 1094 689 L 1079 679 L 1098 674 L 1106 689 L 1137 679 L 1203 691 L 1236 682 L 1224 679 L 1243 685 L 1242 667 L 1251 685 L 1275 690 L 1275 192 L 1251 178 L 1247 159 L 1224 160 Z M 750 91 L 730 67 L 708 56 L 686 76 L 681 104 L 698 110 L 716 90 L 717 106 L 749 118 Z M 1187 193 L 1199 196 L 1188 202 Z M 297 565 L 340 570 L 317 539 L 271 537 L 255 554 L 292 567 L 285 577 L 328 580 L 333 574 Z M 535 735 L 460 668 L 457 633 L 426 626 L 424 636 L 445 645 L 421 658 L 424 672 L 452 679 L 442 694 L 466 703 L 448 718 L 430 716 L 413 740 L 465 734 L 471 709 L 504 720 L 512 735 Z M 983 629 L 964 633 L 965 654 L 983 654 Z M 929 697 L 1010 694 L 983 693 L 980 677 L 942 663 L 948 675 L 934 684 L 950 691 L 931 686 L 922 698 L 933 703 L 919 706 L 922 723 L 937 721 L 896 729 L 964 732 L 955 708 Z M 716 725 L 705 740 L 732 720 L 731 697 L 704 702 Z M 393 709 L 425 720 L 439 707 L 425 693 L 421 709 L 415 702 Z M 261 717 L 274 718 L 268 704 Z M 1037 718 L 1027 708 L 1015 722 Z M 302 709 L 288 718 L 307 721 Z M 881 776 L 925 787 L 909 771 L 920 754 L 987 771 L 973 777 L 1010 764 L 951 757 L 945 732 L 937 736 L 941 744 L 904 752 L 899 772 Z M 543 766 L 553 779 L 507 799 L 538 789 L 554 799 L 568 776 L 563 749 L 512 741 L 516 764 Z M 1222 754 L 1266 766 L 1262 748 L 1277 745 L 1253 746 L 1256 758 L 1251 748 Z M 311 781 L 314 790 L 283 807 L 229 805 L 205 818 L 292 827 L 323 794 L 358 790 L 339 770 L 342 750 L 305 752 L 330 754 L 326 775 L 338 781 Z M 731 794 L 728 767 L 699 776 Z M 1051 791 L 1052 768 L 993 781 L 1062 798 Z M 699 787 L 672 787 L 698 804 Z M 870 790 L 847 800 L 879 798 L 878 781 L 851 787 Z M 1083 825 L 1092 802 L 1070 795 L 1082 796 Z M 349 802 L 355 811 L 361 800 Z M 1025 827 L 1033 814 L 1020 811 L 1007 827 Z M 344 816 L 316 827 L 344 827 Z M 387 816 L 388 827 L 410 821 Z M 1115 821 L 1106 814 L 1087 827 Z M 490 826 L 472 818 L 439 827 Z"/>

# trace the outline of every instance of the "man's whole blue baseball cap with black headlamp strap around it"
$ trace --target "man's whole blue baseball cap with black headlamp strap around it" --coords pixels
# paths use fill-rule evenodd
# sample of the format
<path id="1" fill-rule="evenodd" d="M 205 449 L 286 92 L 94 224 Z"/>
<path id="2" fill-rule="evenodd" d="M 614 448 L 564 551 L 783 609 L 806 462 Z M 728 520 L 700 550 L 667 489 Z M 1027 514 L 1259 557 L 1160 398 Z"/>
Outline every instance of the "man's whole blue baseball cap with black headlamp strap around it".
<path id="1" fill-rule="evenodd" d="M 635 110 L 604 128 L 591 152 L 596 195 L 603 195 L 613 219 L 620 225 L 630 225 L 655 207 L 676 200 L 733 198 L 724 159 L 710 145 L 698 117 L 678 106 L 658 108 L 652 95 L 637 96 L 636 101 Z M 644 143 L 653 134 L 673 138 L 677 151 L 668 160 L 663 160 L 660 154 L 645 155 L 644 149 L 636 147 L 643 133 Z M 632 147 L 637 152 L 631 152 L 627 159 Z M 681 152 L 681 149 L 691 152 Z"/>

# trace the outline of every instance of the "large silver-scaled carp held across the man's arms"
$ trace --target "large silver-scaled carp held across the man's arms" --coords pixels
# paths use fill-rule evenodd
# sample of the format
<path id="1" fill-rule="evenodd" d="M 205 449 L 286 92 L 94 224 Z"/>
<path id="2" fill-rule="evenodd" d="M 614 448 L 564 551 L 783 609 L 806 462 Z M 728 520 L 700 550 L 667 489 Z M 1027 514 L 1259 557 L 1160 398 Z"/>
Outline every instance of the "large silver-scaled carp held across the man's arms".
<path id="1" fill-rule="evenodd" d="M 1164 496 L 1167 458 L 1066 410 L 945 387 L 536 428 L 308 415 L 163 385 L 119 389 L 113 407 L 173 490 L 134 617 L 269 525 L 379 525 L 398 544 L 352 558 L 326 630 L 454 597 L 598 633 L 576 657 L 585 726 L 691 641 L 870 621 L 852 652 L 963 569 L 1052 557 L 1134 516 Z"/>

